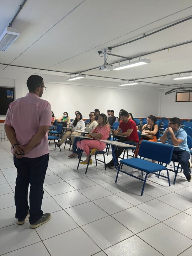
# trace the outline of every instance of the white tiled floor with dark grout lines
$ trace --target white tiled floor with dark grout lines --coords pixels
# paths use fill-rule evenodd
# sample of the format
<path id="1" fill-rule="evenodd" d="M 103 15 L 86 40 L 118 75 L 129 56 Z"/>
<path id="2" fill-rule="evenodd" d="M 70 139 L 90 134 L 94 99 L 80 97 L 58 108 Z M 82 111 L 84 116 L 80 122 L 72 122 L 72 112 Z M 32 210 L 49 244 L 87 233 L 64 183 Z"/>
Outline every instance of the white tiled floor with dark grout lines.
<path id="1" fill-rule="evenodd" d="M 42 210 L 52 219 L 30 229 L 15 219 L 16 168 L 9 142 L 0 144 L 0 255 L 6 256 L 190 256 L 192 182 L 179 174 L 176 184 L 143 182 L 103 164 L 76 170 L 68 145 L 50 146 Z M 106 156 L 106 162 L 111 154 Z M 171 181 L 173 173 L 170 172 Z"/>

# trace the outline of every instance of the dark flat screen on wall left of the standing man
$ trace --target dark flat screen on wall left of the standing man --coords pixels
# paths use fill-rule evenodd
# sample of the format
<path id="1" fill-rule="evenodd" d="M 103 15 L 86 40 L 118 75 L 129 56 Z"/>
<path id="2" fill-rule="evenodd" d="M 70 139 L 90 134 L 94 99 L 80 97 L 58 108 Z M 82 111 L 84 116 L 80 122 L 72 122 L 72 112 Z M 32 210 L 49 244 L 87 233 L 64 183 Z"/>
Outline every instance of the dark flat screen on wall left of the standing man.
<path id="1" fill-rule="evenodd" d="M 15 100 L 14 87 L 0 87 L 0 116 L 6 116 L 9 104 Z"/>

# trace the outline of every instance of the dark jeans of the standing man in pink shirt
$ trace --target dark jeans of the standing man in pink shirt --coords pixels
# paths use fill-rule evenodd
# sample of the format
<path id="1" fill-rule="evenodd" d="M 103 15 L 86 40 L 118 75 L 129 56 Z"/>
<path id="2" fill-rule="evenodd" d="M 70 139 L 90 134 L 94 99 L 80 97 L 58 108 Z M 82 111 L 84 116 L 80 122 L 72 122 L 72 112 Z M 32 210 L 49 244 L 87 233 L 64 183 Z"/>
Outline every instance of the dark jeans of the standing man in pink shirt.
<path id="1" fill-rule="evenodd" d="M 15 186 L 15 218 L 25 219 L 29 206 L 27 202 L 28 187 L 30 186 L 30 223 L 34 224 L 41 219 L 43 211 L 41 204 L 43 199 L 43 183 L 48 167 L 49 154 L 37 158 L 20 159 L 14 156 L 14 164 L 17 168 Z"/>

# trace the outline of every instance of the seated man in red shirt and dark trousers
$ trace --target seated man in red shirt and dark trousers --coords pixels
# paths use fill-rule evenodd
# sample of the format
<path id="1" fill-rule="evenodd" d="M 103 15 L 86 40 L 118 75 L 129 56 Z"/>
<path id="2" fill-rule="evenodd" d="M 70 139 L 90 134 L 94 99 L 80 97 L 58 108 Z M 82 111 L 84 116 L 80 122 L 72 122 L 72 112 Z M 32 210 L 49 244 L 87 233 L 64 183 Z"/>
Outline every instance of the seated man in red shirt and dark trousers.
<path id="1" fill-rule="evenodd" d="M 125 143 L 138 143 L 139 137 L 137 132 L 136 124 L 133 120 L 129 119 L 129 113 L 126 110 L 121 112 L 121 119 L 122 121 L 119 123 L 119 127 L 117 130 L 112 130 L 113 135 L 124 135 L 127 136 L 125 138 L 118 139 L 118 142 L 125 142 Z M 121 133 L 122 130 L 122 133 Z M 124 148 L 117 147 L 114 151 L 116 156 L 117 162 L 119 156 L 122 154 Z M 114 168 L 114 161 L 113 159 L 106 164 L 106 167 Z"/>

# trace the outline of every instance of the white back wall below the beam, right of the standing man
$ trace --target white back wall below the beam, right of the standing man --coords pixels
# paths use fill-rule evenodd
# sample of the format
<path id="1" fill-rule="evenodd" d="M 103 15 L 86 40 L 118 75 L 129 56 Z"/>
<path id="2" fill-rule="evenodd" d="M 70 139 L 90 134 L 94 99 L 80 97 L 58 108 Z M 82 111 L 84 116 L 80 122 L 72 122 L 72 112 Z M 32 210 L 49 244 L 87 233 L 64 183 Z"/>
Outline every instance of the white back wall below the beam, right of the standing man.
<path id="1" fill-rule="evenodd" d="M 50 83 L 46 86 L 42 98 L 50 102 L 56 118 L 61 117 L 64 111 L 74 118 L 76 110 L 82 113 L 83 118 L 88 118 L 95 108 L 105 114 L 112 109 L 115 116 L 121 108 L 134 117 L 158 115 L 159 95 L 155 92 Z"/>

